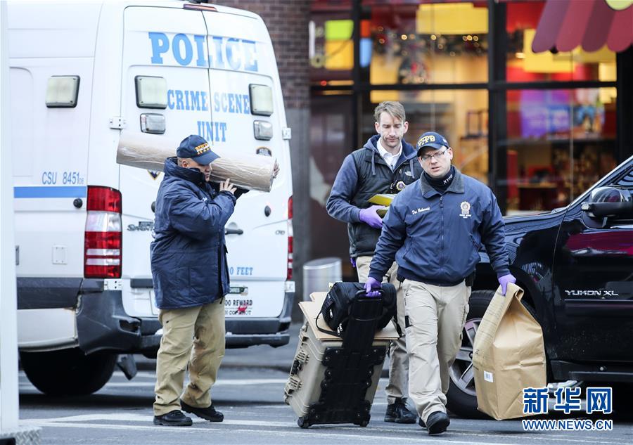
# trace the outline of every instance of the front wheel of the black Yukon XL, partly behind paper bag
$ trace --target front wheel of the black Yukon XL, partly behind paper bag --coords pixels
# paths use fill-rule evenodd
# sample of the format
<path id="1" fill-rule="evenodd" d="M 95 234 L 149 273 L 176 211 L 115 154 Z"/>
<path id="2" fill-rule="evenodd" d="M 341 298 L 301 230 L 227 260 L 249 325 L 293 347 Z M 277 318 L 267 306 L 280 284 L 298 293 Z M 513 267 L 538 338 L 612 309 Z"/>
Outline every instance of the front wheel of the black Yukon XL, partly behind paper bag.
<path id="1" fill-rule="evenodd" d="M 461 348 L 449 370 L 451 382 L 446 394 L 447 408 L 463 418 L 489 418 L 477 409 L 475 374 L 473 372 L 473 342 L 479 323 L 492 297 L 494 297 L 494 290 L 473 290 L 471 293 L 471 298 L 468 300 L 468 316 L 466 316 L 466 323 L 463 326 Z M 535 310 L 532 307 L 525 303 L 523 306 L 536 318 Z"/>

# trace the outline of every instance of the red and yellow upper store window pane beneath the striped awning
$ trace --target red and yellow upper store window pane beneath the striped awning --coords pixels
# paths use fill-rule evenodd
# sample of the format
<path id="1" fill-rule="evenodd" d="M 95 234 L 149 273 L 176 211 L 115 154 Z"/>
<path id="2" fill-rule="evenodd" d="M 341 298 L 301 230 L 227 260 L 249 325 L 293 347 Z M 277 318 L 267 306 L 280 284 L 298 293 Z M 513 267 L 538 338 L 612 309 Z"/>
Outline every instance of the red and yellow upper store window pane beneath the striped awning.
<path id="1" fill-rule="evenodd" d="M 507 4 L 508 82 L 615 81 L 615 53 L 606 46 L 594 52 L 583 51 L 580 46 L 567 52 L 532 52 L 532 40 L 544 6 L 545 1 L 512 1 Z"/>

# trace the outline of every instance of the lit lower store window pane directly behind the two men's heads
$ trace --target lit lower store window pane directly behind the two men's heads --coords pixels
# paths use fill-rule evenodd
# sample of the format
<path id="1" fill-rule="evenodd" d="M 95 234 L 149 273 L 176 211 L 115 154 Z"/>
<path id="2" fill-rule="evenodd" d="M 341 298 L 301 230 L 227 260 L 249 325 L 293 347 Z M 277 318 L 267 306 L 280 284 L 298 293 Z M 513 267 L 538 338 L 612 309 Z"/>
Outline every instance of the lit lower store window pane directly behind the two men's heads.
<path id="1" fill-rule="evenodd" d="M 488 94 L 483 89 L 371 91 L 363 107 L 364 142 L 376 130 L 373 110 L 381 101 L 399 101 L 409 122 L 405 141 L 416 144 L 421 134 L 437 131 L 453 149 L 453 164 L 461 172 L 488 183 Z"/>

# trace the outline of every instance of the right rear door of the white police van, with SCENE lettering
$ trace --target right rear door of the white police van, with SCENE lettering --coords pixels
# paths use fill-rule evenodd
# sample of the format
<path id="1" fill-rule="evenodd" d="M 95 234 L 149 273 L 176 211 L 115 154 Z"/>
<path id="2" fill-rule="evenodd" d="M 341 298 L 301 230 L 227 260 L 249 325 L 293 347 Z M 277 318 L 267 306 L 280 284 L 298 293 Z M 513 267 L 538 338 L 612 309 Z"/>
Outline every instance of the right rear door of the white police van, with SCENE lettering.
<path id="1" fill-rule="evenodd" d="M 230 12 L 229 12 L 230 11 Z M 243 11 L 205 12 L 210 65 L 210 122 L 200 135 L 234 153 L 271 155 L 281 172 L 270 193 L 251 191 L 239 198 L 226 226 L 231 294 L 227 318 L 274 318 L 281 314 L 288 265 L 288 198 L 291 194 L 288 143 L 276 60 L 262 20 Z M 255 115 L 252 85 L 270 88 L 271 115 Z M 255 139 L 253 122 L 272 126 L 269 141 Z M 230 326 L 230 323 L 227 324 Z"/>

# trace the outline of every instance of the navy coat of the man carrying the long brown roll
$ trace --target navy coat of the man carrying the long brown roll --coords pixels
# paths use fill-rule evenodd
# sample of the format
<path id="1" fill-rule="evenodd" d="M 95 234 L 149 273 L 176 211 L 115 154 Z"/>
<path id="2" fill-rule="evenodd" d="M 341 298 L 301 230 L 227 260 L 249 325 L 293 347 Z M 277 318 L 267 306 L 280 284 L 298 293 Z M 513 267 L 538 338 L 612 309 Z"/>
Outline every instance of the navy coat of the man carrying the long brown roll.
<path id="1" fill-rule="evenodd" d="M 165 160 L 158 188 L 151 264 L 156 306 L 202 306 L 229 292 L 224 225 L 235 208 L 230 192 L 216 193 L 203 173 Z"/>

